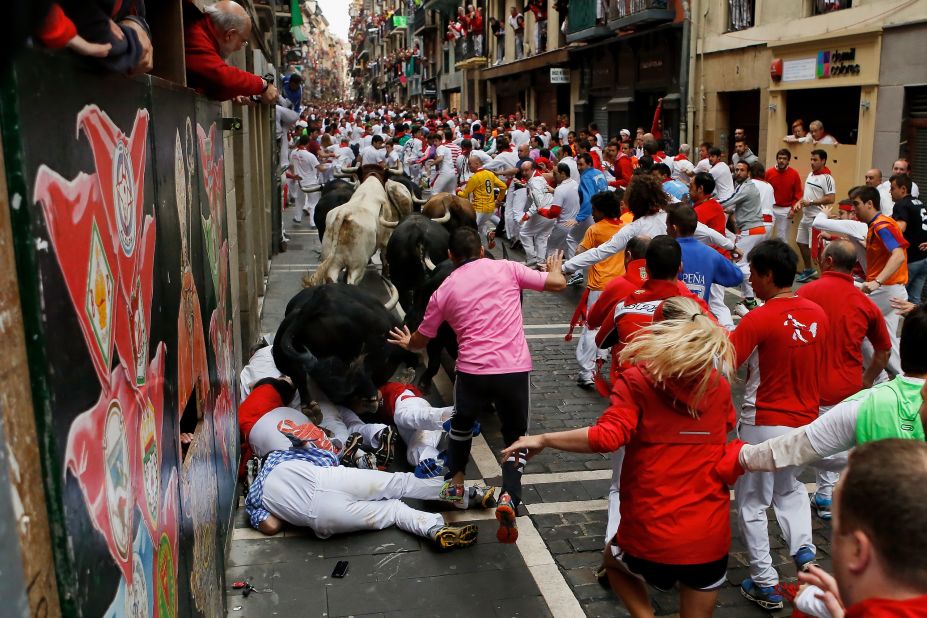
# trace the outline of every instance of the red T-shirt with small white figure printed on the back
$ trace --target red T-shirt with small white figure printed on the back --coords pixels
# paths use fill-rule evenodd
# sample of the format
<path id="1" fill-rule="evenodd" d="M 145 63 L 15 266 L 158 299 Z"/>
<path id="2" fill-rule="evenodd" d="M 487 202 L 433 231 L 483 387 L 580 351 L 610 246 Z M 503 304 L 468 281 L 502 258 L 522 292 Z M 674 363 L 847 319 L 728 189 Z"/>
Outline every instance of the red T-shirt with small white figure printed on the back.
<path id="1" fill-rule="evenodd" d="M 827 367 L 827 314 L 805 298 L 773 298 L 731 334 L 737 366 L 747 363 L 741 419 L 802 427 L 818 417 Z"/>

